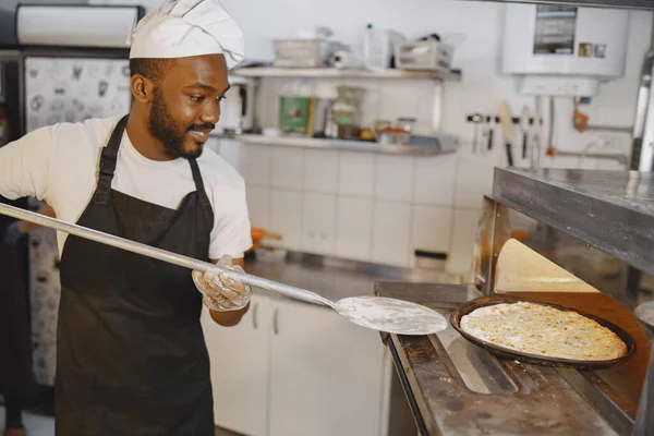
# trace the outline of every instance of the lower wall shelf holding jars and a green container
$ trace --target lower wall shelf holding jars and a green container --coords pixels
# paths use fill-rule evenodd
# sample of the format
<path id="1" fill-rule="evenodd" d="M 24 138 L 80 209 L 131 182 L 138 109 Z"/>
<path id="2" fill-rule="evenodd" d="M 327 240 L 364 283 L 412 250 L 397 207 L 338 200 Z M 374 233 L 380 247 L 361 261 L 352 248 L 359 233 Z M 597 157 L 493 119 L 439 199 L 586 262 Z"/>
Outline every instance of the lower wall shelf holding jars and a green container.
<path id="1" fill-rule="evenodd" d="M 359 153 L 374 153 L 387 155 L 405 156 L 436 156 L 457 152 L 457 138 L 449 135 L 438 135 L 437 144 L 434 146 L 404 146 L 404 145 L 383 145 L 379 143 L 364 141 L 341 141 L 341 140 L 322 140 L 314 137 L 293 137 L 293 136 L 264 136 L 254 134 L 242 134 L 231 137 L 241 141 L 244 144 L 272 145 L 282 147 L 299 148 L 319 148 L 319 149 L 339 149 Z"/>

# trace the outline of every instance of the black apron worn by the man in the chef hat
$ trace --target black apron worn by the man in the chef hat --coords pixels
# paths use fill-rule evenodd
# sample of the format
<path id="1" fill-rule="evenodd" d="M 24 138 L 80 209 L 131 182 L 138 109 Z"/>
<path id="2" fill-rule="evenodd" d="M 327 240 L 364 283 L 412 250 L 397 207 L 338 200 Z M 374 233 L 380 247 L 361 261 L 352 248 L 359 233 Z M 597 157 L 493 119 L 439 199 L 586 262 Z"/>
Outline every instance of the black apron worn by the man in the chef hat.
<path id="1" fill-rule="evenodd" d="M 98 185 L 77 222 L 208 261 L 214 213 L 194 159 L 196 191 L 179 210 L 111 190 L 126 118 L 102 149 Z M 57 435 L 213 436 L 201 311 L 189 269 L 69 235 L 57 330 Z"/>

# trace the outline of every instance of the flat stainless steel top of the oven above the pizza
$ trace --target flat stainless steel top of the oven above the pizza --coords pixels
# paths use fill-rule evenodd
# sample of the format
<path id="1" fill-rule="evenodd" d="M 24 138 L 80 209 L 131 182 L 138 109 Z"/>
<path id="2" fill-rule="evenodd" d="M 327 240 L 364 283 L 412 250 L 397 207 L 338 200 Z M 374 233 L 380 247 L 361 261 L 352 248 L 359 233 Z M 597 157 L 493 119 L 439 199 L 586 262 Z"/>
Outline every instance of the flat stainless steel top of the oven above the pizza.
<path id="1" fill-rule="evenodd" d="M 654 174 L 496 169 L 493 197 L 654 275 Z"/>

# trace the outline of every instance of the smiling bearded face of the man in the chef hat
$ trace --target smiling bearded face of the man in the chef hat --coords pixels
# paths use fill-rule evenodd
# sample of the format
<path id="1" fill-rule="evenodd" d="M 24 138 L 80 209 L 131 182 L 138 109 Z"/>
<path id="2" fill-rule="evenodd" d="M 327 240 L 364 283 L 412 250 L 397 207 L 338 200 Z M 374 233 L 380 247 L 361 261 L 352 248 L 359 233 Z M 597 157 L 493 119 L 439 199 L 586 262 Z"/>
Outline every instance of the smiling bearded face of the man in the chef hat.
<path id="1" fill-rule="evenodd" d="M 153 93 L 149 130 L 172 157 L 202 155 L 229 88 L 220 55 L 175 59 Z"/>

